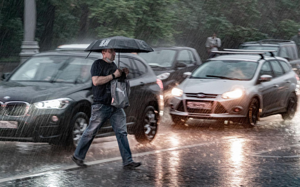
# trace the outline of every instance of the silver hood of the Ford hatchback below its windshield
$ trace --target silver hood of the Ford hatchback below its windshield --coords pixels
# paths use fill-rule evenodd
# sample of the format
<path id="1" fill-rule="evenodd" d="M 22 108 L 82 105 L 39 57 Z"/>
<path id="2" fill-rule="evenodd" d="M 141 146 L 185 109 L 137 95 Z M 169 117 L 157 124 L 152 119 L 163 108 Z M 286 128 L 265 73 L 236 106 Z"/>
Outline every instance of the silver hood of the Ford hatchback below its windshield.
<path id="1" fill-rule="evenodd" d="M 249 81 L 223 79 L 185 79 L 178 87 L 183 93 L 223 94 L 236 88 L 246 89 Z"/>

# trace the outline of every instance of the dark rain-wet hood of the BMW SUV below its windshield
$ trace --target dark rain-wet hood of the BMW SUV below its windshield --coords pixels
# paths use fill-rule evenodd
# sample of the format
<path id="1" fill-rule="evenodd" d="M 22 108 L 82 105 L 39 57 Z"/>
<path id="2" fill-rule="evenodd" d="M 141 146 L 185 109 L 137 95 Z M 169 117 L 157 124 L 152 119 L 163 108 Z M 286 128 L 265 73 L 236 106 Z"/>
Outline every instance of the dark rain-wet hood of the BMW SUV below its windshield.
<path id="1" fill-rule="evenodd" d="M 6 82 L 0 83 L 0 101 L 38 101 L 67 97 L 71 93 L 88 89 L 91 84 L 64 84 L 46 82 Z M 6 97 L 6 99 L 4 99 Z M 9 97 L 9 98 L 8 98 Z M 8 99 L 7 99 L 8 98 Z"/>

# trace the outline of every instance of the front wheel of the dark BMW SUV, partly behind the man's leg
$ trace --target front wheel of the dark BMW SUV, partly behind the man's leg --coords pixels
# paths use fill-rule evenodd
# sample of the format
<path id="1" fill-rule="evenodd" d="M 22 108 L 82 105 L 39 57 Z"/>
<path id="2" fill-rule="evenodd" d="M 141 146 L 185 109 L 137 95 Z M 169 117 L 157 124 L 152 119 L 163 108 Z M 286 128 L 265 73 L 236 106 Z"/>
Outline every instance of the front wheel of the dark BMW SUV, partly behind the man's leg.
<path id="1" fill-rule="evenodd" d="M 84 130 L 88 126 L 88 121 L 89 119 L 87 115 L 83 112 L 76 113 L 76 115 L 71 120 L 72 131 L 69 135 L 69 143 L 75 148 L 77 147 Z"/>

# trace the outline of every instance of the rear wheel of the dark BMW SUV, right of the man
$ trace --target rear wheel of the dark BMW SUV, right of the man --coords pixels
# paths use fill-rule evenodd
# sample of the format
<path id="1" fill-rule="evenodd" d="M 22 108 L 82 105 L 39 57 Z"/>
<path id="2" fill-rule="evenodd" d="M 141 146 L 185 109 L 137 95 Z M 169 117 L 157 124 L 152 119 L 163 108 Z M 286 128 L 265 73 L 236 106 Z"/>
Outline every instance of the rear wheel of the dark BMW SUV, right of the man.
<path id="1" fill-rule="evenodd" d="M 135 139 L 139 143 L 151 142 L 157 132 L 157 121 L 159 116 L 152 106 L 147 106 L 143 113 L 142 119 L 137 122 L 138 128 L 134 133 Z"/>

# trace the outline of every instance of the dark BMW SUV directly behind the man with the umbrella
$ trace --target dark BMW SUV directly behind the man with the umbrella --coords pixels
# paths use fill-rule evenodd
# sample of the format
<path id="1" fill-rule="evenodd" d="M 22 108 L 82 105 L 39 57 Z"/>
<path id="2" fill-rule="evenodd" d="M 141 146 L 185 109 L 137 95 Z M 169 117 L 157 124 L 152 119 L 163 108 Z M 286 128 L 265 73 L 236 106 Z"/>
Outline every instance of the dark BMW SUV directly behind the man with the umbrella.
<path id="1" fill-rule="evenodd" d="M 0 140 L 76 146 L 90 117 L 90 67 L 102 57 L 91 53 L 86 58 L 87 54 L 42 52 L 6 74 L 0 82 Z M 134 134 L 138 142 L 150 142 L 163 114 L 160 80 L 137 55 L 121 54 L 120 67 L 130 71 L 130 106 L 125 109 L 128 134 Z M 107 122 L 96 137 L 112 135 Z"/>

